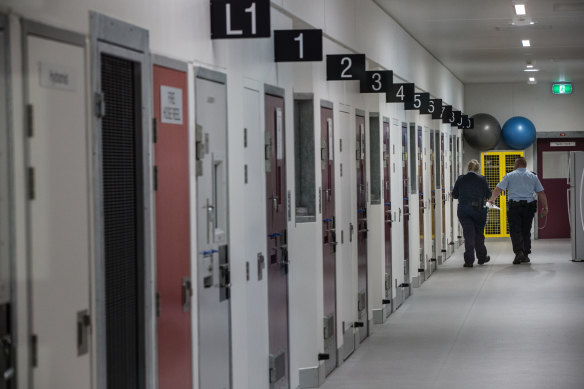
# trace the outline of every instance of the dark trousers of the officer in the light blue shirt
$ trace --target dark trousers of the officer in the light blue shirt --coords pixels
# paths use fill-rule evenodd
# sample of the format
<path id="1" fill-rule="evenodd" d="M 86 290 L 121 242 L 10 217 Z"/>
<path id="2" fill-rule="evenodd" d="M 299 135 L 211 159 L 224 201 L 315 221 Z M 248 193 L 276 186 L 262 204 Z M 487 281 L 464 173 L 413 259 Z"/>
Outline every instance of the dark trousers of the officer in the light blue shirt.
<path id="1" fill-rule="evenodd" d="M 537 202 L 531 203 L 509 201 L 507 203 L 507 223 L 509 235 L 513 242 L 513 252 L 531 253 L 531 224 L 537 212 Z"/>

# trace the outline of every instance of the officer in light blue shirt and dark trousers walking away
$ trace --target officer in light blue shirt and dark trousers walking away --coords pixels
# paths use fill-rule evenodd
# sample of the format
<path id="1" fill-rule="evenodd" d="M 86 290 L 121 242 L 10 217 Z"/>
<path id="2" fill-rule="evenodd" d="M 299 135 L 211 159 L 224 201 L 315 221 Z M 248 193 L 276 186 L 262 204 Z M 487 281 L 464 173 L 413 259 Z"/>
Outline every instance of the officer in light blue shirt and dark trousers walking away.
<path id="1" fill-rule="evenodd" d="M 507 173 L 497 184 L 489 202 L 495 203 L 497 197 L 507 189 L 507 223 L 515 253 L 514 265 L 529 263 L 531 254 L 531 224 L 537 212 L 537 199 L 542 204 L 542 217 L 547 216 L 547 197 L 537 176 L 527 170 L 527 161 L 520 157 L 515 160 L 515 170 Z"/>

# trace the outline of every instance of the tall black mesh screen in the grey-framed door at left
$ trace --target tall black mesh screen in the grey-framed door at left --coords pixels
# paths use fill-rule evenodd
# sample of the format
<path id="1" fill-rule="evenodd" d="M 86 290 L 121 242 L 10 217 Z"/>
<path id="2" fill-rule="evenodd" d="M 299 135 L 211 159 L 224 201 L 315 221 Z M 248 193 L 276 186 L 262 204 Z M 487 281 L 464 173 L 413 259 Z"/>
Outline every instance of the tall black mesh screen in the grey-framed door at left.
<path id="1" fill-rule="evenodd" d="M 142 273 L 139 70 L 101 56 L 103 220 L 108 389 L 140 385 Z"/>

